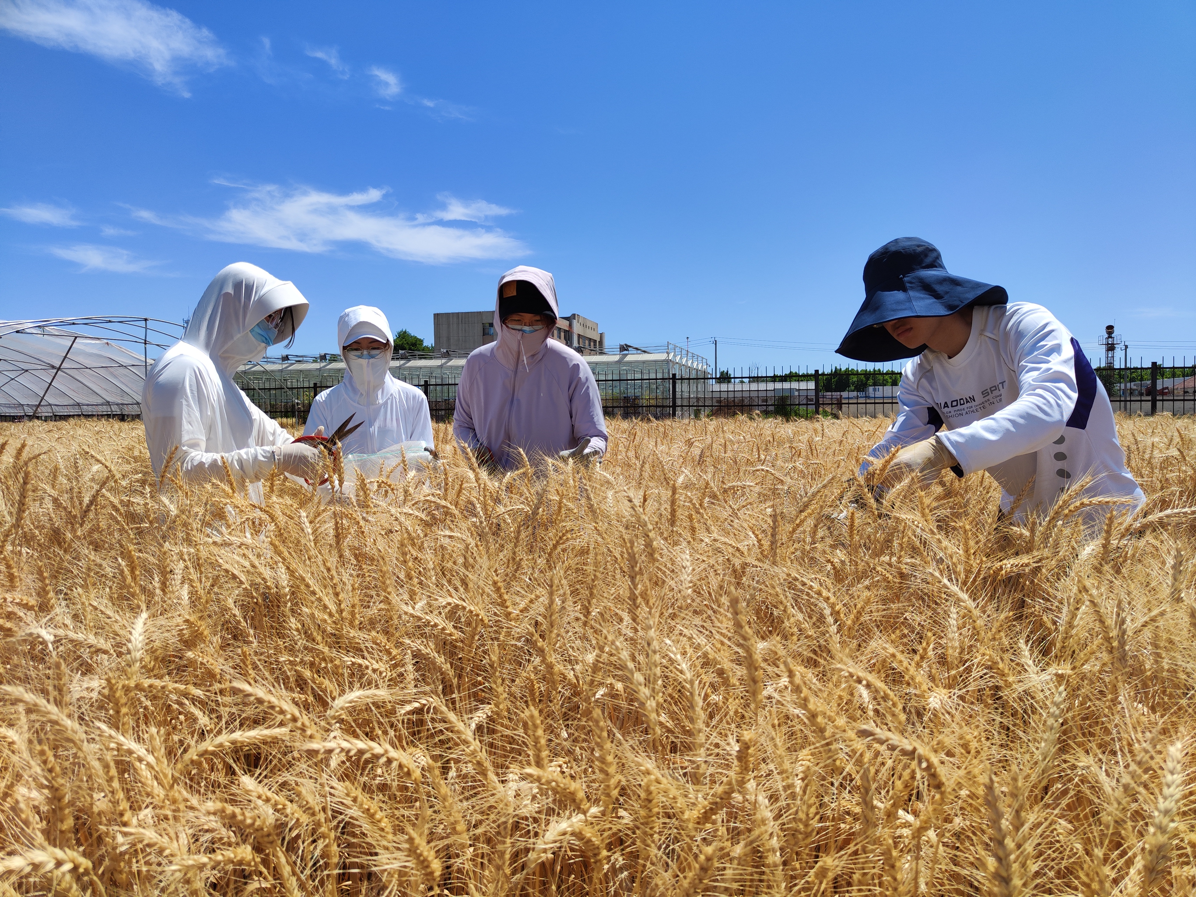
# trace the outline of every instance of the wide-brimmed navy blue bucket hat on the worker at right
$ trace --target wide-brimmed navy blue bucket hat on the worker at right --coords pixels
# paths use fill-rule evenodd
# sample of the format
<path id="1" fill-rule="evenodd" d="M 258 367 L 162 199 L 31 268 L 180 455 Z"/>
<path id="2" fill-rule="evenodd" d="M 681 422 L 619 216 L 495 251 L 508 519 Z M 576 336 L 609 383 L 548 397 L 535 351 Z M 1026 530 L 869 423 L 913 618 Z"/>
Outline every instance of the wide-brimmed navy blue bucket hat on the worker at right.
<path id="1" fill-rule="evenodd" d="M 897 318 L 941 318 L 968 305 L 1005 305 L 1005 287 L 948 274 L 942 256 L 917 237 L 898 237 L 864 266 L 864 305 L 835 349 L 858 361 L 896 361 L 926 349 L 902 346 L 880 324 Z"/>

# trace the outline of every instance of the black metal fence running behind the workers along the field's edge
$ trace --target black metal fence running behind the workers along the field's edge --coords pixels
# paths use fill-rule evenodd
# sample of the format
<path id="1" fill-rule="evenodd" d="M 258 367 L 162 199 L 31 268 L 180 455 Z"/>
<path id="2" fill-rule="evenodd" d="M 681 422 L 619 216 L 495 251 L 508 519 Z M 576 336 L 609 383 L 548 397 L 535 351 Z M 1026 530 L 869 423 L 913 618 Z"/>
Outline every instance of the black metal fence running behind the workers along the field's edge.
<path id="1" fill-rule="evenodd" d="M 1161 366 L 1096 368 L 1113 410 L 1127 414 L 1196 414 L 1196 368 Z M 684 377 L 628 373 L 598 377 L 609 417 L 730 417 L 761 414 L 804 417 L 883 417 L 897 410 L 898 371 L 811 371 Z M 275 417 L 307 419 L 312 398 L 331 384 L 255 386 L 242 384 L 262 410 Z M 428 397 L 432 417 L 450 420 L 457 382 L 413 384 Z"/>

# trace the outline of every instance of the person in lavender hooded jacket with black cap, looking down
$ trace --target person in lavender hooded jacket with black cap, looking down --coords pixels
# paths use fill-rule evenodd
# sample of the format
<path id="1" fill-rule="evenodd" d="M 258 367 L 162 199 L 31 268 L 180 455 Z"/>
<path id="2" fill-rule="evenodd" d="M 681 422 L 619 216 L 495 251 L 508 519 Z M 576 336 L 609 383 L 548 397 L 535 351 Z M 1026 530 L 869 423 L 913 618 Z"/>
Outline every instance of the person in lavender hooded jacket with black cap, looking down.
<path id="1" fill-rule="evenodd" d="M 548 458 L 600 459 L 606 423 L 593 372 L 549 338 L 559 317 L 553 275 L 512 268 L 499 277 L 494 317 L 498 338 L 465 359 L 453 435 L 492 469 L 518 469 L 520 452 L 538 469 Z"/>

